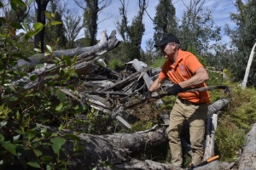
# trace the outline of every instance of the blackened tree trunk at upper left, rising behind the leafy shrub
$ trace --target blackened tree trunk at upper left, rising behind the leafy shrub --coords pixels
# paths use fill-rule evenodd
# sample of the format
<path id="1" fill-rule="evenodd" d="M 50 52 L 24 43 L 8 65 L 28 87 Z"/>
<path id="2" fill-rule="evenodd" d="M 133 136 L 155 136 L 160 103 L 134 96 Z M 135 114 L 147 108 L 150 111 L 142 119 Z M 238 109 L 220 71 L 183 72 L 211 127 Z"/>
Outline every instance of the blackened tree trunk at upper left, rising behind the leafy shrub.
<path id="1" fill-rule="evenodd" d="M 44 12 L 46 11 L 49 0 L 35 0 L 35 1 L 38 4 L 37 22 L 41 22 L 43 25 L 45 25 L 46 18 L 45 18 Z M 38 32 L 34 40 L 34 47 L 40 48 L 42 53 L 44 53 L 44 32 L 45 32 L 45 28 L 43 28 L 42 31 Z"/>

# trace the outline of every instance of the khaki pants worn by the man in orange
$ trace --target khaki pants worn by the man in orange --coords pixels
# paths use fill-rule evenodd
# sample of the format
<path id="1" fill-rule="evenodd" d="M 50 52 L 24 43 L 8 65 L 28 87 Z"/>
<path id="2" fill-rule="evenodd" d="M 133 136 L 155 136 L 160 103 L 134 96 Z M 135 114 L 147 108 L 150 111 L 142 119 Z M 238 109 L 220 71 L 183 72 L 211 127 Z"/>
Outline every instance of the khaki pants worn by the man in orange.
<path id="1" fill-rule="evenodd" d="M 170 114 L 168 139 L 171 148 L 172 164 L 181 166 L 183 163 L 182 146 L 180 133 L 183 129 L 183 122 L 189 122 L 189 135 L 192 149 L 192 163 L 201 163 L 204 150 L 203 139 L 207 120 L 208 107 L 206 104 L 193 105 L 189 102 L 182 102 L 176 99 L 175 105 Z"/>

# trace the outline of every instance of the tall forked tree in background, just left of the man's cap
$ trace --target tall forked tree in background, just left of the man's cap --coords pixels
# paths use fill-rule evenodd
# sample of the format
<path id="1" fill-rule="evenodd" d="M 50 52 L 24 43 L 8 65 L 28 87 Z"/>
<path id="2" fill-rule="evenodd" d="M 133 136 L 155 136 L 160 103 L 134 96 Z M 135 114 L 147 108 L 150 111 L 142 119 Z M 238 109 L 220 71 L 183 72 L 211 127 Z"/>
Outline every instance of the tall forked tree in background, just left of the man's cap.
<path id="1" fill-rule="evenodd" d="M 131 26 L 128 26 L 125 0 L 119 1 L 121 3 L 119 14 L 122 20 L 117 22 L 117 30 L 125 42 L 125 45 L 121 46 L 125 50 L 125 59 L 140 59 L 141 43 L 145 32 L 143 15 L 147 8 L 147 0 L 138 0 L 139 12 L 133 18 Z"/>

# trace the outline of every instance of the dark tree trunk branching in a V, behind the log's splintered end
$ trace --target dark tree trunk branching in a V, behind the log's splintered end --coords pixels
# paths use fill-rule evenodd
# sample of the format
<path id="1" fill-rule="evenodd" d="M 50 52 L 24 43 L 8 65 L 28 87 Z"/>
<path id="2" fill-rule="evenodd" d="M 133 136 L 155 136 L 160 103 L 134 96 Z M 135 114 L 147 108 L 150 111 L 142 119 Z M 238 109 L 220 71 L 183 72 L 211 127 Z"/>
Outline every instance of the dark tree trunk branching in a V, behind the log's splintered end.
<path id="1" fill-rule="evenodd" d="M 90 39 L 88 45 L 92 46 L 96 44 L 96 34 L 98 30 L 98 16 L 103 8 L 108 7 L 111 0 L 84 0 L 84 3 L 80 3 L 79 0 L 74 0 L 75 3 L 82 9 L 84 9 L 84 36 L 85 39 Z"/>

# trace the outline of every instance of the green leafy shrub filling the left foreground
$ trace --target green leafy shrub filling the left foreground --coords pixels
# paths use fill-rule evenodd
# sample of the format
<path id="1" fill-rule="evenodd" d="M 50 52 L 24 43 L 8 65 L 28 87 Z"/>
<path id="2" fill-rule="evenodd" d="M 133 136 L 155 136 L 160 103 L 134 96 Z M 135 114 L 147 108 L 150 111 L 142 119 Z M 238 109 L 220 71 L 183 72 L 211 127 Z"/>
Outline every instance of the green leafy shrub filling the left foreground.
<path id="1" fill-rule="evenodd" d="M 2 3 L 0 3 L 3 7 Z M 25 8 L 26 4 L 21 0 L 12 1 L 11 8 L 16 10 L 17 6 Z M 26 23 L 21 25 L 17 22 L 9 23 L 9 20 L 1 18 L 3 26 L 0 27 L 0 73 L 1 90 L 4 95 L 0 97 L 0 169 L 9 168 L 41 168 L 59 169 L 66 168 L 69 159 L 76 153 L 78 148 L 74 145 L 73 153 L 67 154 L 62 149 L 67 138 L 71 136 L 60 136 L 51 133 L 44 127 L 38 127 L 38 123 L 55 124 L 61 130 L 68 121 L 67 116 L 77 113 L 78 107 L 73 107 L 73 101 L 66 98 L 61 92 L 61 86 L 68 86 L 71 77 L 76 77 L 72 65 L 76 58 L 70 59 L 63 56 L 55 59 L 51 56 L 53 49 L 46 46 L 45 55 L 49 55 L 56 69 L 47 71 L 42 76 L 28 74 L 21 69 L 15 68 L 18 59 L 27 59 L 26 50 L 22 49 L 24 44 L 31 44 L 30 40 L 44 28 L 41 23 L 35 23 L 29 30 Z M 49 25 L 58 24 L 53 21 Z M 46 24 L 46 26 L 49 26 Z M 15 37 L 13 31 L 22 29 L 25 31 L 20 37 Z M 30 46 L 29 46 L 30 47 Z M 25 51 L 23 51 L 25 50 Z M 38 68 L 40 65 L 38 65 Z M 26 84 L 15 84 L 12 82 L 27 77 L 31 82 L 47 82 L 43 87 L 26 88 Z M 56 86 L 57 85 L 57 86 Z M 79 112 L 84 111 L 79 107 Z M 73 137 L 74 142 L 77 140 Z M 46 151 L 47 150 L 47 151 Z M 48 154 L 49 153 L 49 154 Z M 52 154 L 50 154 L 52 153 Z M 69 152 L 68 152 L 69 153 Z"/>

